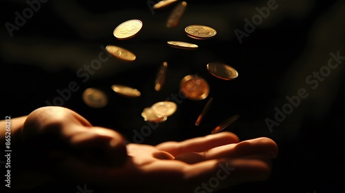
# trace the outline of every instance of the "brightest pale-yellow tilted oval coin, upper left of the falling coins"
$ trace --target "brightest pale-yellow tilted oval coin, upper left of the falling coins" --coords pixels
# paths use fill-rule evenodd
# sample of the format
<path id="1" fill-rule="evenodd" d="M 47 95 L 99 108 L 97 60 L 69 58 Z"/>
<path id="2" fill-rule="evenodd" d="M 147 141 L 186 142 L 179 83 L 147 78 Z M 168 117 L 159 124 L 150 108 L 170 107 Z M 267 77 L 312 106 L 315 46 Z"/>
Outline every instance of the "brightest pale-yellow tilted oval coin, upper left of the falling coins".
<path id="1" fill-rule="evenodd" d="M 141 30 L 143 23 L 139 19 L 131 19 L 121 23 L 113 32 L 117 39 L 130 39 Z"/>

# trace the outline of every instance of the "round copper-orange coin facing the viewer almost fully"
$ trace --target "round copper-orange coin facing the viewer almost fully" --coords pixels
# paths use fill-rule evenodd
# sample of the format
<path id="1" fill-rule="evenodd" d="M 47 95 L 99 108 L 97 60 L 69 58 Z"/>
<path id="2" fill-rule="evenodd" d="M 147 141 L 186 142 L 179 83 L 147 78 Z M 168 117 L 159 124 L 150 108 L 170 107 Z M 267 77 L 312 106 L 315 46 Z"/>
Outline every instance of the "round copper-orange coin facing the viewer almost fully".
<path id="1" fill-rule="evenodd" d="M 188 99 L 206 99 L 210 92 L 210 87 L 205 79 L 197 75 L 187 75 L 181 80 L 180 89 L 182 94 Z"/>

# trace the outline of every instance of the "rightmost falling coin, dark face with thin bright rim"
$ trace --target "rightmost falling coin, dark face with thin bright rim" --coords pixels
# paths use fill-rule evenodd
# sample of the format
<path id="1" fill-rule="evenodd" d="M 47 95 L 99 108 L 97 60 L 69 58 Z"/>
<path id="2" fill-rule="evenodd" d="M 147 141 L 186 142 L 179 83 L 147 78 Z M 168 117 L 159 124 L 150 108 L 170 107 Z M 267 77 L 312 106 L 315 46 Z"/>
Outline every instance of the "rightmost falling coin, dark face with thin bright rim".
<path id="1" fill-rule="evenodd" d="M 224 80 L 233 80 L 238 77 L 238 72 L 235 68 L 230 65 L 219 62 L 210 62 L 207 64 L 207 70 L 213 76 L 224 79 Z"/>

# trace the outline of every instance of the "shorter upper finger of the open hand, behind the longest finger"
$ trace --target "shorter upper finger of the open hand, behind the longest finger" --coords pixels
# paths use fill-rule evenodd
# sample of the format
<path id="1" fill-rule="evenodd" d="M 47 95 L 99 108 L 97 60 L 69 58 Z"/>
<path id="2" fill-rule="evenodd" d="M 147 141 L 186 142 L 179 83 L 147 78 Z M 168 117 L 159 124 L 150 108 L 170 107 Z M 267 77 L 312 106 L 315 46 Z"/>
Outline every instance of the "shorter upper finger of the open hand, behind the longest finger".
<path id="1" fill-rule="evenodd" d="M 235 134 L 231 132 L 219 132 L 217 134 L 209 134 L 207 136 L 187 139 L 181 142 L 169 141 L 160 143 L 156 148 L 161 151 L 169 152 L 173 156 L 177 156 L 187 152 L 204 152 L 221 145 L 238 142 L 239 138 Z"/>

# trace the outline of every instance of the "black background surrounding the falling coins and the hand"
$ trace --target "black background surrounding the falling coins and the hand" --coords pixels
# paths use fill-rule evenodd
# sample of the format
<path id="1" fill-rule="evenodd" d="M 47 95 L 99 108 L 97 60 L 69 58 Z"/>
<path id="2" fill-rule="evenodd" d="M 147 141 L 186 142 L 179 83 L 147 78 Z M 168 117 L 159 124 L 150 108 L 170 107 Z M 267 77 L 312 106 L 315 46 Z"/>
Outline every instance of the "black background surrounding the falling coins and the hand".
<path id="1" fill-rule="evenodd" d="M 222 192 L 344 192 L 344 61 L 312 86 L 306 77 L 328 63 L 330 52 L 345 56 L 345 1 L 277 1 L 277 9 L 239 43 L 235 30 L 244 31 L 244 19 L 258 14 L 260 1 L 186 1 L 186 12 L 175 28 L 166 28 L 168 8 L 152 11 L 157 1 L 55 1 L 40 3 L 12 37 L 6 23 L 15 24 L 17 15 L 28 8 L 26 1 L 1 1 L 1 109 L 0 116 L 22 116 L 46 106 L 68 89 L 71 81 L 79 90 L 62 106 L 85 116 L 93 125 L 118 130 L 130 142 L 134 130 L 148 125 L 141 117 L 144 108 L 179 93 L 179 81 L 197 74 L 208 81 L 207 99 L 181 99 L 177 112 L 157 124 L 142 143 L 181 141 L 209 134 L 234 114 L 240 119 L 226 128 L 241 140 L 267 136 L 277 142 L 279 156 L 273 161 L 268 181 L 231 187 Z M 122 22 L 140 19 L 144 26 L 136 37 L 117 40 L 112 31 Z M 187 37 L 184 28 L 193 24 L 217 30 L 213 39 Z M 187 41 L 197 50 L 170 48 L 166 41 Z M 77 70 L 90 65 L 108 44 L 137 55 L 134 62 L 110 58 L 83 82 Z M 162 90 L 154 81 L 159 65 L 168 62 Z M 208 73 L 211 61 L 233 66 L 239 77 L 232 81 Z M 334 62 L 334 61 L 333 61 Z M 335 63 L 334 63 L 335 64 Z M 313 79 L 316 80 L 316 79 Z M 128 99 L 111 90 L 112 84 L 137 88 L 141 96 Z M 106 92 L 108 105 L 90 108 L 81 100 L 86 88 Z M 288 103 L 286 96 L 308 92 L 306 99 L 286 118 L 268 129 L 265 120 L 275 120 L 276 108 Z M 204 120 L 195 121 L 213 97 Z M 173 101 L 173 100 L 170 100 Z M 2 178 L 1 178 L 2 179 Z M 90 187 L 92 189 L 92 187 Z M 67 190 L 66 190 L 67 191 Z M 97 192 L 97 190 L 94 190 Z M 77 190 L 76 190 L 77 192 Z"/>

